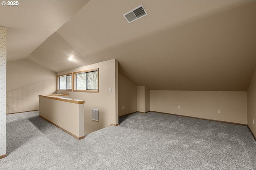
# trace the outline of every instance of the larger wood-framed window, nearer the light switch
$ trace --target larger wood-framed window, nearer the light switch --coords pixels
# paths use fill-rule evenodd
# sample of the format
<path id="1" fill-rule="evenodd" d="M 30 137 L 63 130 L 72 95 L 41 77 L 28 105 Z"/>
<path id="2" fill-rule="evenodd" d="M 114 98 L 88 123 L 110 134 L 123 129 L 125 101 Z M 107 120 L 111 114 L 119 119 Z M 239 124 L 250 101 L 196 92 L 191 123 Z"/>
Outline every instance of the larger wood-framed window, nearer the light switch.
<path id="1" fill-rule="evenodd" d="M 74 91 L 98 92 L 98 69 L 79 71 L 74 75 Z"/>

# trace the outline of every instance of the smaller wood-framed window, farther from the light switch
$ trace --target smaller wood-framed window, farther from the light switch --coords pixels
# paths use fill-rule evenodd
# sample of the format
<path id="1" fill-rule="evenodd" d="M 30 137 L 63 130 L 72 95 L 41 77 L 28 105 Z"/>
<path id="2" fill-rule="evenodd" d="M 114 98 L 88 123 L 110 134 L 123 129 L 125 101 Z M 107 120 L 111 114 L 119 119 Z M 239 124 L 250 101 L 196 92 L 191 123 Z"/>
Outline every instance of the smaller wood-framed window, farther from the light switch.
<path id="1" fill-rule="evenodd" d="M 58 90 L 72 90 L 72 73 L 57 76 Z"/>

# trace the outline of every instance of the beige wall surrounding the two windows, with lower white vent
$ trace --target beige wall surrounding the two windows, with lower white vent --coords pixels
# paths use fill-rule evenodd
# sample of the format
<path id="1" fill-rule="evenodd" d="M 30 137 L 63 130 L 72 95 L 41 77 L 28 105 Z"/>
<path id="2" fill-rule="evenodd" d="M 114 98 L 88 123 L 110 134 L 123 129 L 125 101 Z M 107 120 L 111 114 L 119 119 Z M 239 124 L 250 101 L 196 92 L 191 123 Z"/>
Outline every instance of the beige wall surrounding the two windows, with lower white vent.
<path id="1" fill-rule="evenodd" d="M 70 92 L 58 91 L 58 93 L 69 93 L 69 98 L 84 100 L 84 134 L 108 127 L 118 123 L 118 110 L 116 109 L 116 84 L 118 80 L 118 67 L 115 59 L 59 72 L 58 75 L 99 68 L 99 92 Z M 112 92 L 108 88 L 112 88 Z M 56 87 L 55 87 L 56 88 Z M 117 96 L 118 97 L 118 96 Z M 117 99 L 118 100 L 118 99 Z M 117 101 L 118 102 L 118 101 Z M 99 121 L 92 121 L 92 109 L 99 109 Z M 117 115 L 116 115 L 117 114 Z"/>

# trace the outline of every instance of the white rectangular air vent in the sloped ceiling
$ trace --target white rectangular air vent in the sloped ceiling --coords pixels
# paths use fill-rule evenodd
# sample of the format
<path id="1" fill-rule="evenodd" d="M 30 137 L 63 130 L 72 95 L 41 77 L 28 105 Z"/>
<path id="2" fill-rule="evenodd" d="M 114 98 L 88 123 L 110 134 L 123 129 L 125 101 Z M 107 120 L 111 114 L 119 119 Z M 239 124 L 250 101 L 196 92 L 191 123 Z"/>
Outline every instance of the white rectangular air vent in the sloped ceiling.
<path id="1" fill-rule="evenodd" d="M 133 10 L 130 10 L 126 14 L 124 14 L 124 18 L 127 20 L 128 23 L 134 22 L 144 16 L 148 15 L 143 5 L 140 5 Z"/>

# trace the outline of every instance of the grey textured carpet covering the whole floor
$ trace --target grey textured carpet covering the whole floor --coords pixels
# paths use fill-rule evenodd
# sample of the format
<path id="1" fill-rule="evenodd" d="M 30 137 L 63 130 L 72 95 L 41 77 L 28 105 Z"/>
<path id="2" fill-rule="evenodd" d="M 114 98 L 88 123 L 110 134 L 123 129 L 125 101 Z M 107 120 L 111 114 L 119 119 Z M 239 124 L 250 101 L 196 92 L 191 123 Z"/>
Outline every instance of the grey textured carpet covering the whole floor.
<path id="1" fill-rule="evenodd" d="M 6 119 L 0 169 L 256 169 L 256 142 L 245 126 L 134 113 L 76 140 L 37 111 Z"/>

